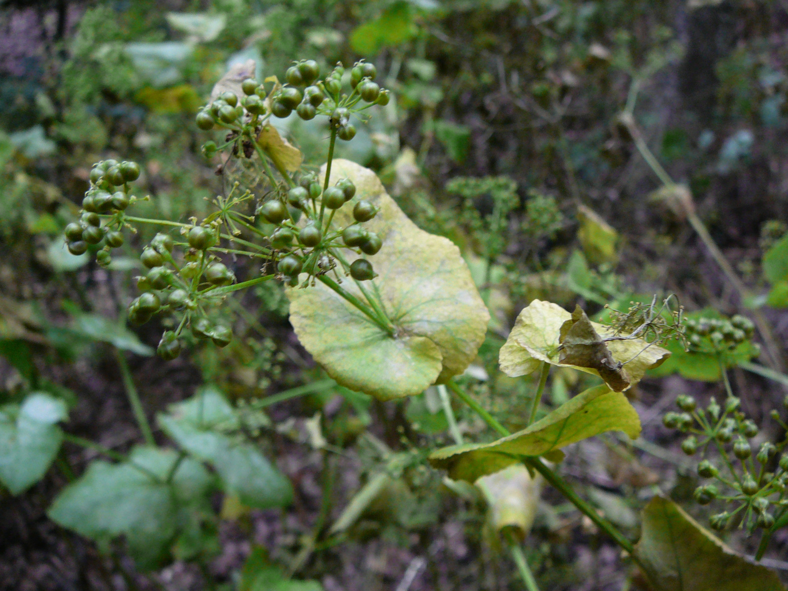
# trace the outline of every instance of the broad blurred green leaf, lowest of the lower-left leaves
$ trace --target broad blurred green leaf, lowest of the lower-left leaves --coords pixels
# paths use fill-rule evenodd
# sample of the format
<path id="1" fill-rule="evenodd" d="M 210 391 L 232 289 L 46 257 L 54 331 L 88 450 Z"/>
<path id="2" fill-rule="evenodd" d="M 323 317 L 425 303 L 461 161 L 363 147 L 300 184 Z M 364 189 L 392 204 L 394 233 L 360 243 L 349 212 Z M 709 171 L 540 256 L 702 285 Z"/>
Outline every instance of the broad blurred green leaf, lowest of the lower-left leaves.
<path id="1" fill-rule="evenodd" d="M 97 460 L 66 486 L 48 511 L 50 519 L 99 542 L 125 536 L 139 567 L 158 566 L 167 555 L 186 507 L 206 503 L 210 474 L 193 459 L 178 462 L 169 449 L 137 447 L 128 462 Z"/>

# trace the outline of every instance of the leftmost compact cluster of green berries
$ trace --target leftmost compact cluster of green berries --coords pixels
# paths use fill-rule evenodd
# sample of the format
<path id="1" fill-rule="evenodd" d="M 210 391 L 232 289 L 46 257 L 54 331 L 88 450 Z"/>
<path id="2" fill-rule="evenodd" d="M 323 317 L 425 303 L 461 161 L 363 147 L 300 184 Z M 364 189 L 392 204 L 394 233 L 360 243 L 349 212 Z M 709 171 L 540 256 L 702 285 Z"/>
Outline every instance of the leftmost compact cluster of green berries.
<path id="1" fill-rule="evenodd" d="M 82 255 L 89 244 L 103 244 L 96 260 L 102 266 L 110 264 L 111 249 L 124 242 L 121 233 L 123 212 L 135 199 L 129 195 L 129 184 L 137 178 L 139 165 L 136 162 L 102 160 L 93 167 L 91 186 L 82 199 L 80 221 L 65 227 L 66 243 L 72 255 Z"/>

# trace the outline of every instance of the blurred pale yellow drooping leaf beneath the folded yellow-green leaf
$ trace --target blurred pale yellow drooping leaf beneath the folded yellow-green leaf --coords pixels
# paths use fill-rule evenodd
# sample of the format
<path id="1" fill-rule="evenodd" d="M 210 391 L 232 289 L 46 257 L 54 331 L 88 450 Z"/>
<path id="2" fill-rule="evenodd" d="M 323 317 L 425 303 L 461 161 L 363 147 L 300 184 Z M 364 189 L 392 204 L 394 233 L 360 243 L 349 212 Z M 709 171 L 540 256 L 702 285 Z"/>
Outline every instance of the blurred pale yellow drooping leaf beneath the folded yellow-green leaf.
<path id="1" fill-rule="evenodd" d="M 490 522 L 496 532 L 513 530 L 522 540 L 533 526 L 544 479 L 531 477 L 526 466 L 515 464 L 495 474 L 482 476 L 476 485 L 484 493 Z"/>

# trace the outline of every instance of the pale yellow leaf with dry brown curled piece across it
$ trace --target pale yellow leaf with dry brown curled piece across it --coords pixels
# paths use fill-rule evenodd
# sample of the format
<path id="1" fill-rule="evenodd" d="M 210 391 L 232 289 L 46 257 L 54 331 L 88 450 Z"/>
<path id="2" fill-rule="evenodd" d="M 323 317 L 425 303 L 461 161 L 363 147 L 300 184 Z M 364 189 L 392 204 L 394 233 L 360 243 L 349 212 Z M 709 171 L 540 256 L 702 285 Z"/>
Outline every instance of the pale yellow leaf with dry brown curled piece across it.
<path id="1" fill-rule="evenodd" d="M 537 370 L 541 362 L 548 362 L 556 366 L 574 367 L 576 370 L 600 376 L 611 388 L 621 391 L 637 384 L 646 370 L 659 366 L 671 355 L 667 349 L 649 344 L 642 339 L 607 340 L 613 336 L 611 329 L 597 322 L 589 322 L 588 318 L 583 320 L 585 313 L 582 310 L 576 314 L 573 319 L 572 314 L 562 307 L 534 299 L 520 312 L 515 327 L 511 329 L 506 343 L 500 348 L 500 370 L 508 376 L 518 377 Z M 567 322 L 571 324 L 566 325 L 562 335 L 561 329 Z M 580 323 L 578 328 L 571 332 L 571 327 L 578 322 Z M 585 332 L 582 331 L 583 327 Z M 602 336 L 604 340 L 601 344 L 602 348 L 598 343 L 591 345 L 594 340 L 590 332 L 592 330 L 597 336 Z M 575 354 L 583 349 L 584 355 L 572 355 L 568 358 L 569 362 L 564 362 L 563 359 L 567 359 L 565 348 L 562 347 L 564 343 L 575 345 L 573 350 Z M 607 348 L 609 359 L 612 359 L 616 366 L 609 366 L 604 348 Z M 580 365 L 580 362 L 587 365 Z M 606 366 L 605 363 L 608 365 Z M 617 366 L 619 363 L 620 368 Z"/>

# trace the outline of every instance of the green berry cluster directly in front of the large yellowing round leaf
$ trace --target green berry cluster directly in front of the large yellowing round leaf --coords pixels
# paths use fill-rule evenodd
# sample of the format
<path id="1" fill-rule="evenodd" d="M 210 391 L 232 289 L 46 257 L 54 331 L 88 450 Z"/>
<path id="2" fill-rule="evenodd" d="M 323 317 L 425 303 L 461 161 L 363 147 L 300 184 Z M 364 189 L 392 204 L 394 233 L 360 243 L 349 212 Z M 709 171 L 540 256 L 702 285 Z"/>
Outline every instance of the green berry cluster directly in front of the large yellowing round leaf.
<path id="1" fill-rule="evenodd" d="M 377 214 L 377 208 L 369 201 L 360 199 L 355 202 L 352 210 L 354 221 L 344 228 L 331 225 L 334 212 L 354 196 L 355 185 L 350 179 L 340 179 L 333 187 L 324 190 L 317 177 L 307 173 L 281 198 L 269 199 L 258 207 L 257 213 L 276 226 L 270 236 L 273 256 L 278 261 L 277 271 L 290 285 L 298 284 L 300 273 L 309 276 L 304 287 L 310 280 L 314 283 L 314 277 L 336 268 L 336 258 L 345 266 L 340 248 L 349 248 L 359 255 L 376 255 L 381 250 L 381 238 L 363 226 Z M 306 223 L 297 224 L 292 210 L 303 213 Z M 326 212 L 329 212 L 327 216 Z M 375 277 L 372 263 L 366 258 L 356 259 L 346 270 L 356 281 Z"/>

